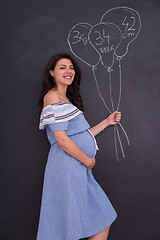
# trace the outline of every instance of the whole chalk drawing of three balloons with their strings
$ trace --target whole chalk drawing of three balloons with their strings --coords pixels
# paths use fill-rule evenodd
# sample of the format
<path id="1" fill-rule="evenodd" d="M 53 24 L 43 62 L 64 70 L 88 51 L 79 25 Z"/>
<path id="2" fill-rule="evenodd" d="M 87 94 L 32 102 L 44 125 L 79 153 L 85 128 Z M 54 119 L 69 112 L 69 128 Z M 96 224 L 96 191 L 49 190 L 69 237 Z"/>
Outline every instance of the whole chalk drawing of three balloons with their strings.
<path id="1" fill-rule="evenodd" d="M 71 52 L 87 64 L 92 69 L 98 94 L 111 114 L 119 111 L 122 97 L 122 67 L 121 61 L 129 51 L 129 45 L 137 38 L 141 30 L 141 18 L 139 13 L 129 7 L 115 7 L 106 11 L 99 23 L 92 26 L 89 23 L 82 22 L 72 27 L 69 31 L 67 42 Z M 117 106 L 114 106 L 112 94 L 112 72 L 115 61 L 118 61 L 119 68 L 119 96 Z M 109 94 L 111 101 L 110 109 L 100 92 L 98 85 L 98 76 L 95 70 L 98 64 L 102 64 L 107 71 L 109 82 Z M 125 157 L 119 129 L 122 130 L 127 144 L 130 145 L 128 135 L 121 123 L 114 125 L 114 145 L 116 157 L 119 162 L 118 142 L 121 149 L 122 157 Z"/>

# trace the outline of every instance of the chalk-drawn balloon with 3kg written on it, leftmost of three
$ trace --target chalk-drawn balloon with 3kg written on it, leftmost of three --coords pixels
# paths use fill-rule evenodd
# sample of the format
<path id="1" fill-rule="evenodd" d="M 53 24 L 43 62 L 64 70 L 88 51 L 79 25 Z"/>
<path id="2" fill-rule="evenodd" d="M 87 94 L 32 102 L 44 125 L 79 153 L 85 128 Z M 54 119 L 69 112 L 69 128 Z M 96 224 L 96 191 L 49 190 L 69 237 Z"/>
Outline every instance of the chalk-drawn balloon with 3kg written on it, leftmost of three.
<path id="1" fill-rule="evenodd" d="M 88 41 L 88 33 L 92 25 L 88 23 L 76 24 L 68 34 L 68 44 L 71 52 L 90 67 L 100 61 L 100 56 Z"/>

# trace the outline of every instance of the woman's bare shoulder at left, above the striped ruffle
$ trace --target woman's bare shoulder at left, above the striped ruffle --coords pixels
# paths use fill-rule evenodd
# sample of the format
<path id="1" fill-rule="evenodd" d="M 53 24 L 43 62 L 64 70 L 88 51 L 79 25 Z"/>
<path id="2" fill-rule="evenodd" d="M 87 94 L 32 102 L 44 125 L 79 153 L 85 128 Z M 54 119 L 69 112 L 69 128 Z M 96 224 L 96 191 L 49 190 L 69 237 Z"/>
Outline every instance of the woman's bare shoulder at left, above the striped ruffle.
<path id="1" fill-rule="evenodd" d="M 54 90 L 49 90 L 43 98 L 43 107 L 60 102 L 60 97 Z"/>

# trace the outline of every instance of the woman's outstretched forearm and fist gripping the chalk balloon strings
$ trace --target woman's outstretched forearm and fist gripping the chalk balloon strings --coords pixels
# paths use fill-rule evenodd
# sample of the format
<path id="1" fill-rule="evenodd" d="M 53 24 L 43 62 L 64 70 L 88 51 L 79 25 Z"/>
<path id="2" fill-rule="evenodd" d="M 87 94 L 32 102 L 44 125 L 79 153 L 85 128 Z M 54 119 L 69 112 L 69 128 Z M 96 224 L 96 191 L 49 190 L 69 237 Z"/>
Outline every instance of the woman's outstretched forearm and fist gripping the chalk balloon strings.
<path id="1" fill-rule="evenodd" d="M 115 112 L 111 113 L 103 121 L 101 121 L 94 127 L 90 128 L 89 130 L 95 137 L 97 134 L 102 132 L 106 127 L 108 127 L 110 125 L 115 125 L 115 124 L 119 123 L 120 120 L 121 120 L 121 112 L 115 111 Z"/>

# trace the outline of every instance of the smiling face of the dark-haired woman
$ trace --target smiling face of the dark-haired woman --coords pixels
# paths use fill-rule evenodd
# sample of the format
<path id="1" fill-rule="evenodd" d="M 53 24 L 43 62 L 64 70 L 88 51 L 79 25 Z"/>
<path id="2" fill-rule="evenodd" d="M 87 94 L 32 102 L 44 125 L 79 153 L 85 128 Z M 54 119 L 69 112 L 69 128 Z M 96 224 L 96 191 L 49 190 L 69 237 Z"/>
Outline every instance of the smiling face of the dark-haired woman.
<path id="1" fill-rule="evenodd" d="M 57 62 L 54 70 L 50 70 L 50 74 L 57 85 L 68 86 L 73 82 L 75 70 L 70 59 L 62 58 Z"/>

